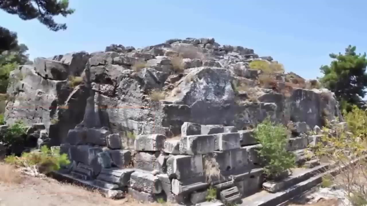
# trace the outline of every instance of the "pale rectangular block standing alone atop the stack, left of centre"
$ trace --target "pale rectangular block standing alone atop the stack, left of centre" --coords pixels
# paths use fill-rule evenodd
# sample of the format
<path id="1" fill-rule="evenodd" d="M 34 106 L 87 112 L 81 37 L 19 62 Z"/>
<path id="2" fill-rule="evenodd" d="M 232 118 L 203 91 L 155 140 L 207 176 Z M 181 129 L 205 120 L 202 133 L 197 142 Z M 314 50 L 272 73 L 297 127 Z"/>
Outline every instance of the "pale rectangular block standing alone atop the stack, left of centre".
<path id="1" fill-rule="evenodd" d="M 166 136 L 160 134 L 138 135 L 134 141 L 136 151 L 160 151 L 163 149 Z"/>

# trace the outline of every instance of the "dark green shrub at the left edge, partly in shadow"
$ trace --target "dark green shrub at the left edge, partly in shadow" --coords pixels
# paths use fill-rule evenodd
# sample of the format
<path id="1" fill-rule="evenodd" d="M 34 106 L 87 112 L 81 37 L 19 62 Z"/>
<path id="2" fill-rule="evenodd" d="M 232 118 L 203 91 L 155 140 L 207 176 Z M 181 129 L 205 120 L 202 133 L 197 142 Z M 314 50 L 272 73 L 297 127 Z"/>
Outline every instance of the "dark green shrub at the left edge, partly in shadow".
<path id="1" fill-rule="evenodd" d="M 22 144 L 24 141 L 23 135 L 25 135 L 27 127 L 21 120 L 16 121 L 10 125 L 6 132 L 0 134 L 0 141 L 6 144 L 8 147 L 14 144 Z"/>

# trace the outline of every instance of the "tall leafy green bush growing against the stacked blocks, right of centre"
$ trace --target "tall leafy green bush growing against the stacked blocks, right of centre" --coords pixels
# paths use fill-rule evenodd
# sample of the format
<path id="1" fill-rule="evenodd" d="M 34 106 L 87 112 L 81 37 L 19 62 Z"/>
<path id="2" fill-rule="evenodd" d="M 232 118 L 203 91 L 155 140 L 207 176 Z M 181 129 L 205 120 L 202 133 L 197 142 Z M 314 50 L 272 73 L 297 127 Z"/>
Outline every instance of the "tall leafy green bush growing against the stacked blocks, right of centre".
<path id="1" fill-rule="evenodd" d="M 274 179 L 295 165 L 295 157 L 287 151 L 287 129 L 266 118 L 255 129 L 255 137 L 262 144 L 259 155 L 264 159 L 265 173 Z"/>

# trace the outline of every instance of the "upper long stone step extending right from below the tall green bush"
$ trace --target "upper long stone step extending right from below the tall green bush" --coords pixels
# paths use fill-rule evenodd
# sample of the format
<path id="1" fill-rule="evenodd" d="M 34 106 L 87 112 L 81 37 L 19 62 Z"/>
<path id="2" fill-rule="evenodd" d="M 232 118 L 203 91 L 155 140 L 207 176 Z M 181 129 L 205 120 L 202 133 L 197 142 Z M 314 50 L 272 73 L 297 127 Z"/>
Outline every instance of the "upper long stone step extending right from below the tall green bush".
<path id="1" fill-rule="evenodd" d="M 262 187 L 269 192 L 278 192 L 284 188 L 300 183 L 328 169 L 328 164 L 323 164 L 311 169 L 296 168 L 292 175 L 280 181 L 267 181 Z"/>

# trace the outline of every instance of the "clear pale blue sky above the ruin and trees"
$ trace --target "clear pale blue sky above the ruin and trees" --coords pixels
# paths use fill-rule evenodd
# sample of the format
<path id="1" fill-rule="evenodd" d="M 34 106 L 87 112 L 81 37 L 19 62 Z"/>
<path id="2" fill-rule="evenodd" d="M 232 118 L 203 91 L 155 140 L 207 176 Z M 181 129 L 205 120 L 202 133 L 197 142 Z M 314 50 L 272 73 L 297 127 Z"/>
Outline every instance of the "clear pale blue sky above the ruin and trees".
<path id="1" fill-rule="evenodd" d="M 170 38 L 214 37 L 221 45 L 252 48 L 283 63 L 286 71 L 316 78 L 320 66 L 330 63 L 330 52 L 344 52 L 349 44 L 367 51 L 367 1 L 69 1 L 76 12 L 56 18 L 68 25 L 65 31 L 52 32 L 37 20 L 22 21 L 3 11 L 0 25 L 18 33 L 32 59 L 101 51 L 110 44 L 139 48 Z"/>

